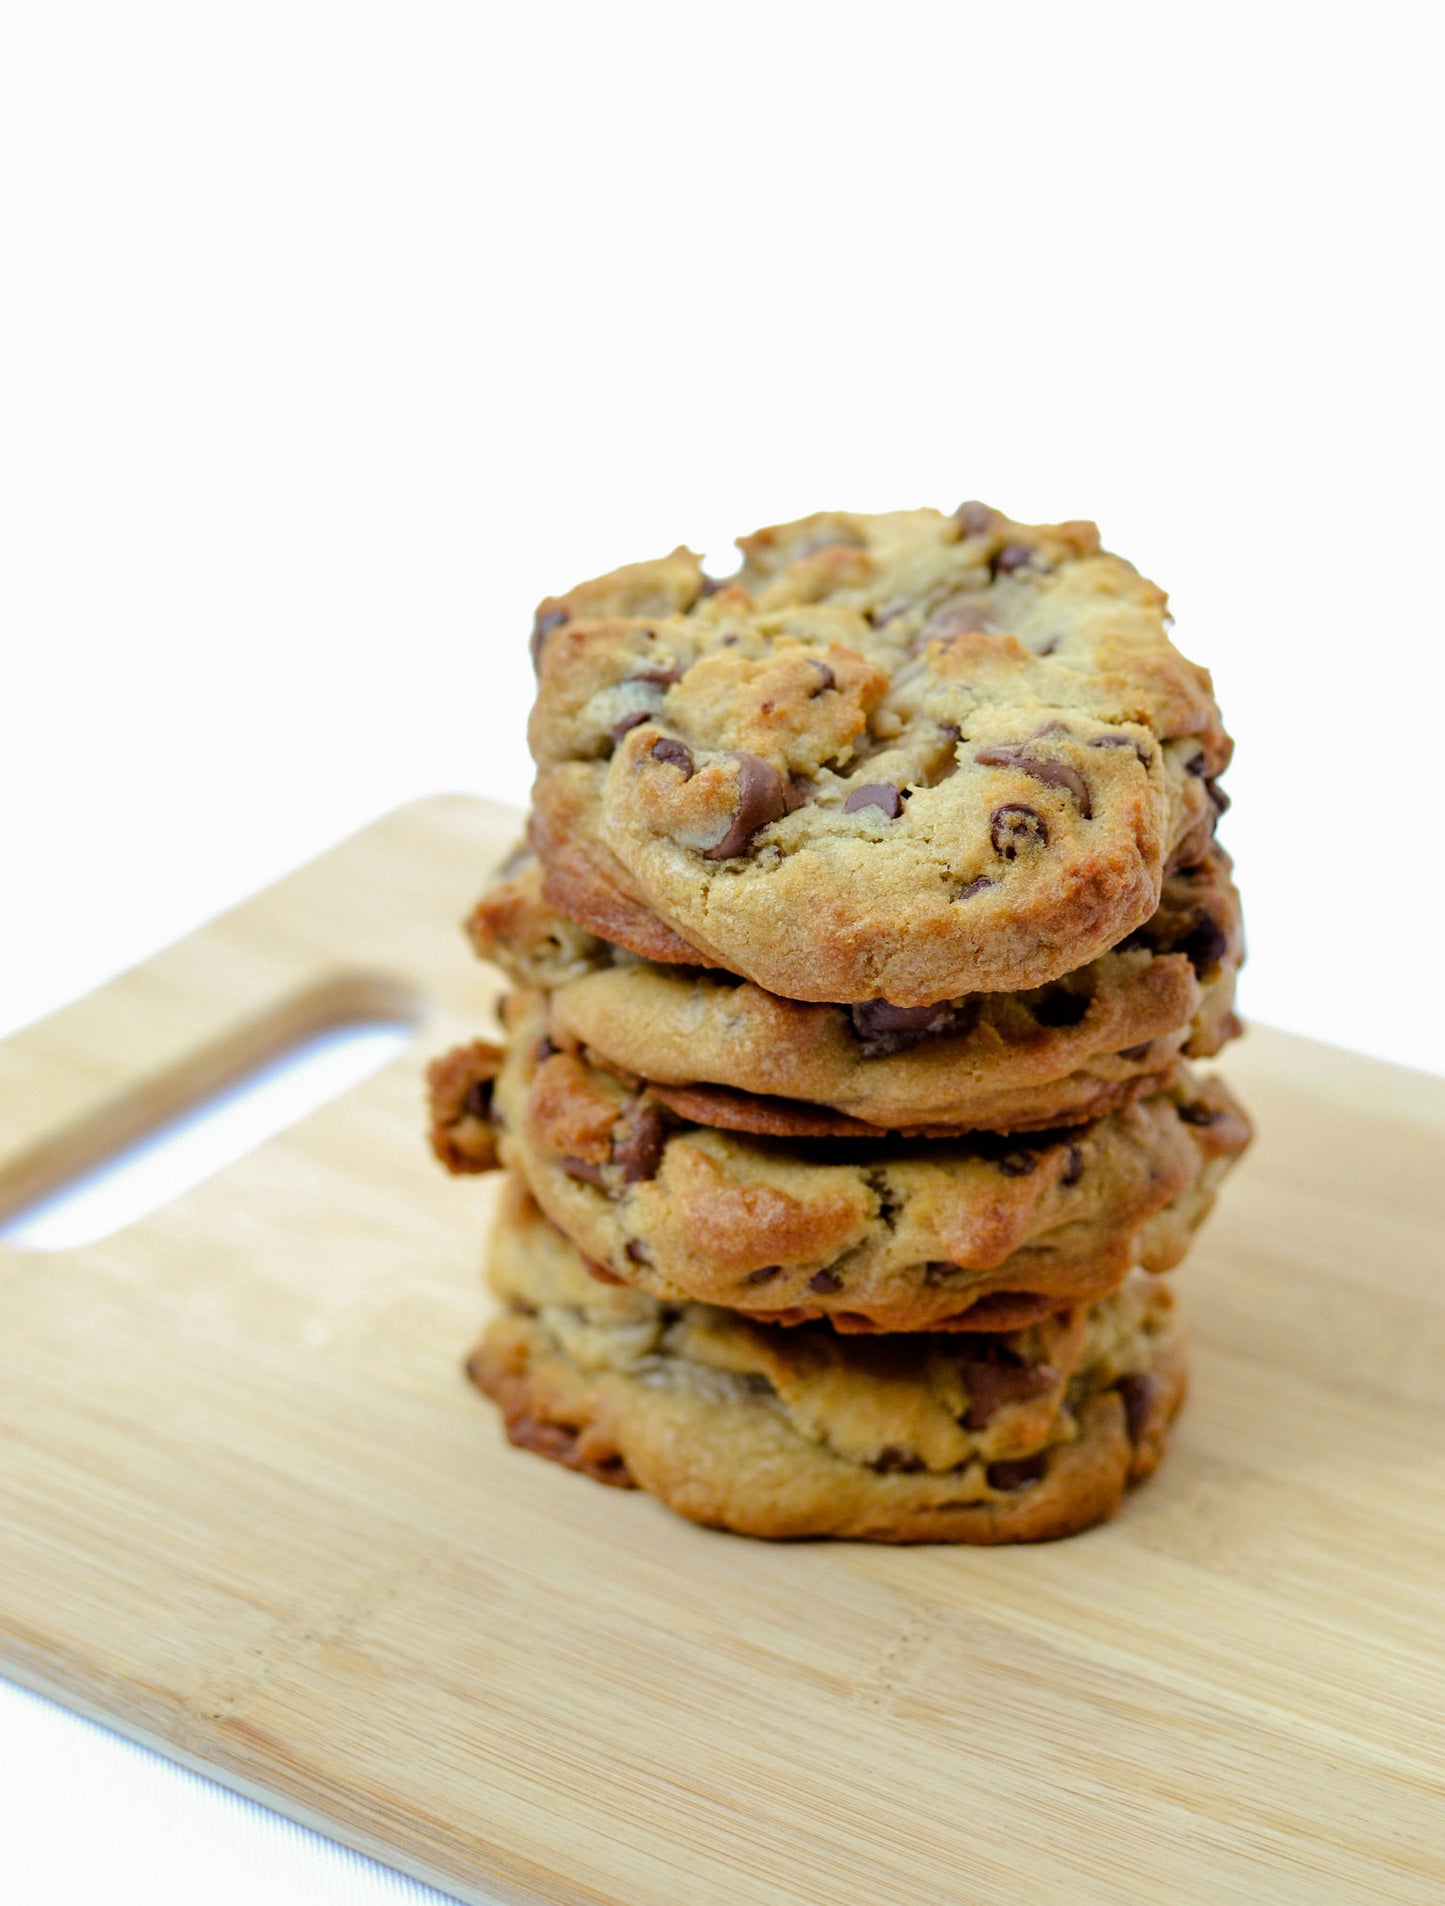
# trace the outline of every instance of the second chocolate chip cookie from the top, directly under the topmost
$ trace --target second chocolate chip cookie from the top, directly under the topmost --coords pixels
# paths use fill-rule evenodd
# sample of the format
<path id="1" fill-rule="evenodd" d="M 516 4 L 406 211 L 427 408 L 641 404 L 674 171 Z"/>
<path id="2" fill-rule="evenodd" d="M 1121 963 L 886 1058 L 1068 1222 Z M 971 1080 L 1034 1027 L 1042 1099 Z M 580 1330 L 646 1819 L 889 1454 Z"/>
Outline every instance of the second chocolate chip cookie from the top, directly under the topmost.
<path id="1" fill-rule="evenodd" d="M 730 974 L 639 961 L 549 907 L 526 856 L 469 928 L 515 980 L 553 989 L 557 1046 L 646 1079 L 669 1109 L 728 1130 L 865 1138 L 1075 1125 L 1157 1090 L 1180 1054 L 1209 1058 L 1239 1031 L 1239 896 L 1218 846 L 1170 873 L 1144 926 L 1079 972 L 938 1006 L 804 1004 Z"/>

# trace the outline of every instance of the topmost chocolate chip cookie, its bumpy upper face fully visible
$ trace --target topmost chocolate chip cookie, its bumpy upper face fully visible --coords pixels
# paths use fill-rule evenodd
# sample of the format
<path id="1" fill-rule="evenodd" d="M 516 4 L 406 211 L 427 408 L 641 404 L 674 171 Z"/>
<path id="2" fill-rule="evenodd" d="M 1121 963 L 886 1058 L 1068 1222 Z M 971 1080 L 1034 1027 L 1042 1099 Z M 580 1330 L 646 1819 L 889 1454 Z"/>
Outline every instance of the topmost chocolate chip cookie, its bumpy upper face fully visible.
<path id="1" fill-rule="evenodd" d="M 1209 675 L 1092 524 L 967 503 L 740 547 L 721 587 L 681 549 L 538 612 L 534 844 L 572 921 L 926 1006 L 1085 964 L 1207 850 Z"/>

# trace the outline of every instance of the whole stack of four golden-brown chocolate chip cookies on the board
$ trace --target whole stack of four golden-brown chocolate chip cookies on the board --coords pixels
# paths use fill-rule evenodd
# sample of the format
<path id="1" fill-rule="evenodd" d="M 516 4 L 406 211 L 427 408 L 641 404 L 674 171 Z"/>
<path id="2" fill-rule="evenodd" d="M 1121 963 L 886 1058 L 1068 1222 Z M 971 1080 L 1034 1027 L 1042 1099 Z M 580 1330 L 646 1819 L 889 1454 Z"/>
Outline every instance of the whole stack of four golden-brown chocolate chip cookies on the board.
<path id="1" fill-rule="evenodd" d="M 1109 1515 L 1184 1395 L 1163 1273 L 1249 1142 L 1230 759 L 1092 524 L 820 515 L 545 600 L 471 1372 L 511 1439 L 766 1536 Z"/>

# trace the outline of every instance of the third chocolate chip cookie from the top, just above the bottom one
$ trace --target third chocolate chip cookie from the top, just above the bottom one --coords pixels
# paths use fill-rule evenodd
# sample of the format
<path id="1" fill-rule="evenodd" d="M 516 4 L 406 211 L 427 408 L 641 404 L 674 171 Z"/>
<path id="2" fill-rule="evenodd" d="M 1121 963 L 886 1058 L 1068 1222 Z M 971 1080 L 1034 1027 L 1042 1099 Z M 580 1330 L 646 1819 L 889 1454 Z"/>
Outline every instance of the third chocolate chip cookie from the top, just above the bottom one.
<path id="1" fill-rule="evenodd" d="M 1170 1269 L 1249 1125 L 1218 1079 L 1092 1125 L 852 1146 L 679 1123 L 646 1086 L 557 1052 L 515 995 L 498 1151 L 608 1275 L 663 1300 L 841 1330 L 995 1328 Z"/>

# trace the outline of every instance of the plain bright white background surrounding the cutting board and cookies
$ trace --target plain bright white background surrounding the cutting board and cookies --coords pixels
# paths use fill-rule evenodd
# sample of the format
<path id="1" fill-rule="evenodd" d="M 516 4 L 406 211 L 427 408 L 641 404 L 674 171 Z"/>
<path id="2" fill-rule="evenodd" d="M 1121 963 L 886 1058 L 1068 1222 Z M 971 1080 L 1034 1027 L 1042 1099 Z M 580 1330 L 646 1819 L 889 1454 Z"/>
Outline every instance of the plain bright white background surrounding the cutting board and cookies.
<path id="1" fill-rule="evenodd" d="M 0 1029 L 522 801 L 538 597 L 984 496 L 1214 669 L 1247 1010 L 1445 1071 L 1428 19 L 0 4 Z M 80 1740 L 0 1702 L 6 1896 L 229 1898 Z M 236 1898 L 383 1896 L 234 1835 Z"/>

